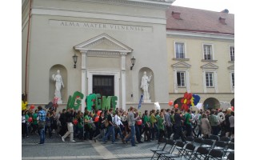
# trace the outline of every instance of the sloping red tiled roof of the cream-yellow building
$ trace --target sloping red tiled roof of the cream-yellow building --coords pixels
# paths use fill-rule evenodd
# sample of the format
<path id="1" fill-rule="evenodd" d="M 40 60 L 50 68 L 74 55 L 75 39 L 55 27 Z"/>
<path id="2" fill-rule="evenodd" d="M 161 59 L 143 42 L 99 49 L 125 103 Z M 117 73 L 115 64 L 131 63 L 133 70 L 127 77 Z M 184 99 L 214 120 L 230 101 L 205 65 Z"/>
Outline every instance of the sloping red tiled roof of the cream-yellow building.
<path id="1" fill-rule="evenodd" d="M 170 6 L 166 18 L 166 30 L 234 34 L 234 14 L 222 11 Z"/>

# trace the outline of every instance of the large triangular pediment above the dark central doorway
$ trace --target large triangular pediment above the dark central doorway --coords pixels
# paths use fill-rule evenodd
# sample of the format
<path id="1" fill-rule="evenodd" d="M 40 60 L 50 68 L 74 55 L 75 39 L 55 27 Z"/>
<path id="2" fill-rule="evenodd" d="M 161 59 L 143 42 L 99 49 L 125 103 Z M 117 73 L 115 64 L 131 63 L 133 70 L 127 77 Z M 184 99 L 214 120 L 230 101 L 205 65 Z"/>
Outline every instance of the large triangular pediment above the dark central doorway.
<path id="1" fill-rule="evenodd" d="M 77 46 L 74 46 L 75 50 L 100 50 L 100 51 L 112 51 L 112 52 L 124 52 L 129 53 L 132 49 L 129 46 L 124 45 L 122 42 L 110 37 L 108 34 L 100 34 L 97 37 L 91 38 L 86 42 L 82 42 Z"/>

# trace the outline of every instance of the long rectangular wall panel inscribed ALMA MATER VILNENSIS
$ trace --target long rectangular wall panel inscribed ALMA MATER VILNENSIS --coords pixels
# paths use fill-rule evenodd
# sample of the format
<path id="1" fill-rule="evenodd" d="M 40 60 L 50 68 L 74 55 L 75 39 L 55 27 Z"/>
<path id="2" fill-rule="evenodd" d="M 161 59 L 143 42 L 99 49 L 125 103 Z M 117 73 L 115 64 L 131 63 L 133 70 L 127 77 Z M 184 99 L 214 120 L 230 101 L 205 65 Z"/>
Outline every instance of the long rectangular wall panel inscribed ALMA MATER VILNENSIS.
<path id="1" fill-rule="evenodd" d="M 74 21 L 59 21 L 49 20 L 50 25 L 54 26 L 73 26 L 86 29 L 102 29 L 102 30 L 122 30 L 122 31 L 137 31 L 137 32 L 152 32 L 150 26 L 129 26 L 110 23 L 96 23 L 96 22 L 74 22 Z"/>

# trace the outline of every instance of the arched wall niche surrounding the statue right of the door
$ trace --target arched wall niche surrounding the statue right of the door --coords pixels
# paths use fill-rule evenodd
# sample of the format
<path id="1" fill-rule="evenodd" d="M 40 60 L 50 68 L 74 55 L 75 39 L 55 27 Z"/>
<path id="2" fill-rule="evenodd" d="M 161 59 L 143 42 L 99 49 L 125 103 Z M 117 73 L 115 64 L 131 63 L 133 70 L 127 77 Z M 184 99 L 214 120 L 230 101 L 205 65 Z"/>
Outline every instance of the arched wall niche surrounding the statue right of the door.
<path id="1" fill-rule="evenodd" d="M 143 94 L 143 90 L 141 88 L 141 84 L 142 84 L 142 76 L 143 76 L 143 73 L 146 71 L 146 75 L 148 77 L 150 77 L 150 75 L 152 75 L 151 79 L 150 79 L 150 82 L 149 82 L 149 94 L 150 94 L 150 100 L 151 102 L 155 102 L 155 98 L 154 98 L 154 73 L 152 70 L 150 70 L 150 68 L 147 68 L 147 67 L 143 67 L 141 70 L 139 70 L 138 72 L 138 93 L 139 93 L 139 98 L 141 96 L 141 94 Z M 138 99 L 139 99 L 138 98 Z"/>

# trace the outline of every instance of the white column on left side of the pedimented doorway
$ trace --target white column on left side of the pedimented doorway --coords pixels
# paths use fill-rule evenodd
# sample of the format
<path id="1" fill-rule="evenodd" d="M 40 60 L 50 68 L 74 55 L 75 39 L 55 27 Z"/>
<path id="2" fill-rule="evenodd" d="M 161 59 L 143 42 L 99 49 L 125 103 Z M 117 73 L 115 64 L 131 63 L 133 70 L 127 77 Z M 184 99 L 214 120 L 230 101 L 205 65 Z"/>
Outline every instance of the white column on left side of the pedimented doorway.
<path id="1" fill-rule="evenodd" d="M 85 104 L 85 100 L 86 100 L 86 53 L 88 51 L 81 51 L 82 54 L 82 94 L 84 95 L 83 99 L 82 99 L 82 112 L 84 112 L 86 104 Z"/>

